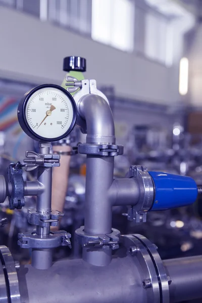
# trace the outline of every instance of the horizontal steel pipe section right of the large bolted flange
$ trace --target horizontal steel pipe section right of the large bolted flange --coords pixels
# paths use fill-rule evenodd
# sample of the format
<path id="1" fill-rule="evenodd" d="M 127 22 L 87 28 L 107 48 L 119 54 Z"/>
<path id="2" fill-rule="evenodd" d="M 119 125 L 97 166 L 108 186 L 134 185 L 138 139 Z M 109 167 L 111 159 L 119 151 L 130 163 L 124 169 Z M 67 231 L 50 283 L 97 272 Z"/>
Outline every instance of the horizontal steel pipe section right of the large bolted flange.
<path id="1" fill-rule="evenodd" d="M 163 261 L 172 282 L 169 286 L 170 302 L 201 298 L 202 256 Z"/>

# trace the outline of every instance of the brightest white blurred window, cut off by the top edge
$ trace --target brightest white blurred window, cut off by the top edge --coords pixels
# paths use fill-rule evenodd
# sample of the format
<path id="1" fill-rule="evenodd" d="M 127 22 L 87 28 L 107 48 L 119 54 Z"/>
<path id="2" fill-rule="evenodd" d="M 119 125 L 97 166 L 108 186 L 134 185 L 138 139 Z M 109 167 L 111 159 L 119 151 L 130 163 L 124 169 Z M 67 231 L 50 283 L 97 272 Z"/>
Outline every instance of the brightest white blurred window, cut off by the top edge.
<path id="1" fill-rule="evenodd" d="M 93 40 L 131 52 L 134 40 L 134 2 L 131 0 L 93 0 Z"/>

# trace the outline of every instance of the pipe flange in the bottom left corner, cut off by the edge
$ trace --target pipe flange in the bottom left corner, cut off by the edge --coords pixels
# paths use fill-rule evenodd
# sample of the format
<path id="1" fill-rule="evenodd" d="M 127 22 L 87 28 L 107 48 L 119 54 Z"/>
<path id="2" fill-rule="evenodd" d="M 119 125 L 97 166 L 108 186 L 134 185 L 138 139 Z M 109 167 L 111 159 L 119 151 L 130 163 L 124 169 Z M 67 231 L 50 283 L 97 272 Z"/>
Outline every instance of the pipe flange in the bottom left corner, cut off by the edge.
<path id="1" fill-rule="evenodd" d="M 21 303 L 15 262 L 8 247 L 0 246 L 0 301 Z"/>

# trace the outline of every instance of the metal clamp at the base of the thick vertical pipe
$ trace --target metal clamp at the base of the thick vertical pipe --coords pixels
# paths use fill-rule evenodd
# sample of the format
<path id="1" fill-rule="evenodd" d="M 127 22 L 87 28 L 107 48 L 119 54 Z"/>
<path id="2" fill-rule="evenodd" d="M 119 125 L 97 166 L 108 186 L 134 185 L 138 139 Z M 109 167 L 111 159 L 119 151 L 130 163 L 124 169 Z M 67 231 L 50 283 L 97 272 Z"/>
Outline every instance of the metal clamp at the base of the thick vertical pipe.
<path id="1" fill-rule="evenodd" d="M 75 239 L 82 247 L 94 247 L 102 249 L 118 249 L 119 248 L 120 231 L 112 228 L 110 234 L 89 235 L 84 231 L 84 226 L 81 226 L 75 231 Z"/>

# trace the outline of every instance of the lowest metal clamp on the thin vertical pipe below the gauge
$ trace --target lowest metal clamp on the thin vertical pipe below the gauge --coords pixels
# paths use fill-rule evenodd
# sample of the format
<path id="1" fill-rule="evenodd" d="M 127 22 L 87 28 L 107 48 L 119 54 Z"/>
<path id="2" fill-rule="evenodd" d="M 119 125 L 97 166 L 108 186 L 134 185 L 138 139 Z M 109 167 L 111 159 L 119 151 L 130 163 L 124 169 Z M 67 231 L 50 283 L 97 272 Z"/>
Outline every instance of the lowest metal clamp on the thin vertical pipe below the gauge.
<path id="1" fill-rule="evenodd" d="M 71 234 L 65 230 L 53 231 L 45 238 L 41 238 L 36 232 L 25 232 L 18 234 L 18 245 L 21 248 L 48 249 L 67 245 L 71 248 Z M 67 241 L 68 239 L 68 241 Z"/>

